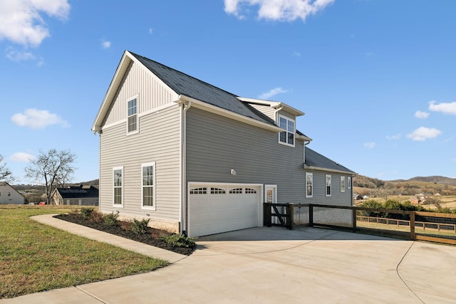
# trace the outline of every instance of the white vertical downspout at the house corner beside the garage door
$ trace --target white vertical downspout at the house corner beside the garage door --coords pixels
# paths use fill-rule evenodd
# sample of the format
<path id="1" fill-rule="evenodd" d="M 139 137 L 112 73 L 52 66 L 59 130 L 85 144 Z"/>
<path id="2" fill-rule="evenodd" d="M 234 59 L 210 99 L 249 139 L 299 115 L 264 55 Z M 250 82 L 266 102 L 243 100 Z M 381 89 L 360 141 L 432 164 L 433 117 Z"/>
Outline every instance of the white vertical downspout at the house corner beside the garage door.
<path id="1" fill-rule="evenodd" d="M 180 167 L 181 167 L 181 184 L 180 184 L 180 201 L 181 201 L 181 214 L 180 222 L 182 226 L 180 228 L 181 233 L 187 236 L 187 111 L 192 107 L 192 103 L 189 101 L 187 104 L 182 103 L 181 109 L 181 140 L 180 140 Z"/>

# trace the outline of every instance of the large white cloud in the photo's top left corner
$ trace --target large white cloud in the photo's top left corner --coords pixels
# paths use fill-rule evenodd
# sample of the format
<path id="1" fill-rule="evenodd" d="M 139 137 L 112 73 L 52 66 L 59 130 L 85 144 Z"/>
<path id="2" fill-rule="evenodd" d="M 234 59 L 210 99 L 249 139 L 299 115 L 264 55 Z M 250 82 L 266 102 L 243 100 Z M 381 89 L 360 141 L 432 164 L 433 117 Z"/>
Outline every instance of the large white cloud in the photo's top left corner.
<path id="1" fill-rule="evenodd" d="M 0 1 L 0 41 L 39 46 L 44 38 L 51 36 L 43 15 L 65 20 L 69 11 L 67 0 Z"/>

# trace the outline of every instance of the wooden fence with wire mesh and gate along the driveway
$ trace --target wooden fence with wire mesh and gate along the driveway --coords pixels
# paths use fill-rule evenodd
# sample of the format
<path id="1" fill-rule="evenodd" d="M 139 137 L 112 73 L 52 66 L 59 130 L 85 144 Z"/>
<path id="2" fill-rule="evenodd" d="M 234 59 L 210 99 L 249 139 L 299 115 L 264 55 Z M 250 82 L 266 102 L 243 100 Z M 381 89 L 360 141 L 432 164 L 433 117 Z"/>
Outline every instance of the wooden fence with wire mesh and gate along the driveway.
<path id="1" fill-rule="evenodd" d="M 456 244 L 456 214 L 436 212 L 322 204 L 264 203 L 264 226 L 282 226 L 288 229 L 298 226 L 323 226 L 349 229 L 353 232 L 399 236 L 410 240 Z"/>

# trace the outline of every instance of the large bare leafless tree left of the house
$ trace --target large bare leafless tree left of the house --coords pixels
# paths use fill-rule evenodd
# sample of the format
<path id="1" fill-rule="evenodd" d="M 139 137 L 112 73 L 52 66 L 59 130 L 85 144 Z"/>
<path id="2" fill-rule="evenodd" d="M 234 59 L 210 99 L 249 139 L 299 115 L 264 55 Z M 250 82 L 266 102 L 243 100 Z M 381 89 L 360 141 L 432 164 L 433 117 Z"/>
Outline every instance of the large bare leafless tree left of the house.
<path id="1" fill-rule="evenodd" d="M 76 156 L 69 150 L 57 151 L 51 149 L 40 154 L 26 167 L 26 177 L 36 182 L 43 182 L 46 186 L 46 202 L 51 203 L 51 194 L 55 184 L 64 184 L 73 174 L 75 167 L 72 166 Z"/>

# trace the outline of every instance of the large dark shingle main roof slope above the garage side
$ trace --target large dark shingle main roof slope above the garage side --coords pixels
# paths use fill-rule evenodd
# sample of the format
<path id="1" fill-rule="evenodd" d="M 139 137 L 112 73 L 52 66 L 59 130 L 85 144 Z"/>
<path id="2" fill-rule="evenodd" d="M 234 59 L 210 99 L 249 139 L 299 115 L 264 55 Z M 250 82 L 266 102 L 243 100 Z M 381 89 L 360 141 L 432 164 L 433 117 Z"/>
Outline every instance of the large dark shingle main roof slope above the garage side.
<path id="1" fill-rule="evenodd" d="M 190 98 L 204 101 L 204 103 L 208 103 L 209 105 L 215 105 L 224 110 L 275 125 L 274 120 L 271 120 L 271 118 L 259 112 L 259 110 L 237 99 L 237 96 L 232 93 L 173 68 L 169 68 L 166 65 L 152 61 L 149 58 L 132 52 L 130 53 L 179 95 L 186 95 Z"/>

